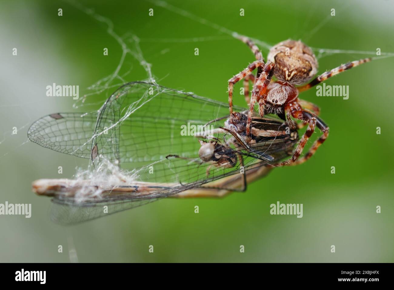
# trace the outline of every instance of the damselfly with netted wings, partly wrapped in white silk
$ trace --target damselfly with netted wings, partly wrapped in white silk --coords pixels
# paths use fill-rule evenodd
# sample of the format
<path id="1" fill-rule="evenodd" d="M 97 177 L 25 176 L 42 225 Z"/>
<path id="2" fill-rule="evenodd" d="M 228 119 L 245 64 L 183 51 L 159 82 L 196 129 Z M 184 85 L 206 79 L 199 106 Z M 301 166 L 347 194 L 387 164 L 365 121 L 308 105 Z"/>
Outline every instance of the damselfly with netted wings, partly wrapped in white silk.
<path id="1" fill-rule="evenodd" d="M 125 84 L 96 112 L 50 114 L 32 124 L 32 142 L 95 167 L 89 179 L 37 180 L 33 190 L 53 196 L 52 219 L 63 224 L 168 196 L 245 190 L 292 153 L 298 134 L 282 120 L 254 116 L 246 144 L 247 109 L 234 110 L 230 118 L 226 103 L 148 82 Z"/>

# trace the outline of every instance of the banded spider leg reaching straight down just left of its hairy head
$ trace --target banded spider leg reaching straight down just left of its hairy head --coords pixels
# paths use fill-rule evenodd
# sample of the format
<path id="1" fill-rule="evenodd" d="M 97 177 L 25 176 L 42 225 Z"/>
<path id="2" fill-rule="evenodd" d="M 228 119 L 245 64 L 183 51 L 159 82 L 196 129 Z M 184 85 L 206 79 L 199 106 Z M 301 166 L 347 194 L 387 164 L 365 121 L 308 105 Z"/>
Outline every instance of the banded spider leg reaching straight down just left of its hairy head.
<path id="1" fill-rule="evenodd" d="M 247 116 L 246 123 L 246 136 L 250 135 L 250 124 L 252 122 L 253 112 L 255 110 L 255 103 L 259 103 L 259 114 L 261 118 L 264 117 L 264 105 L 265 105 L 265 95 L 269 82 L 271 81 L 273 75 L 273 68 L 275 64 L 273 62 L 268 62 L 264 65 L 260 77 L 255 81 L 255 85 L 252 90 L 252 98 L 249 105 L 249 113 Z M 262 108 L 262 109 L 260 109 Z"/>

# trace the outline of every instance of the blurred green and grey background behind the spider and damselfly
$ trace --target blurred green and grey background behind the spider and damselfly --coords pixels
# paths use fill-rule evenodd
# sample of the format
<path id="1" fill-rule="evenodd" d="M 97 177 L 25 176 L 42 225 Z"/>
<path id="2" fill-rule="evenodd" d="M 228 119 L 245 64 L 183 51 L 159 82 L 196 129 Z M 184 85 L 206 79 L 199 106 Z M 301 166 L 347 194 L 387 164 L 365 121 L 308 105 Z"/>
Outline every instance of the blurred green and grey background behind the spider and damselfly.
<path id="1" fill-rule="evenodd" d="M 138 36 L 159 84 L 224 102 L 227 80 L 254 57 L 220 27 L 269 45 L 293 38 L 314 48 L 394 52 L 392 1 L 168 2 L 208 25 L 152 2 L 80 3 L 110 19 L 114 32 L 133 51 L 135 43 L 128 40 L 131 34 Z M 329 16 L 331 8 L 335 17 Z M 327 81 L 348 85 L 348 100 L 316 97 L 314 90 L 301 94 L 320 106 L 330 127 L 328 140 L 307 163 L 277 168 L 249 185 L 246 193 L 164 199 L 62 227 L 50 222 L 50 199 L 34 195 L 31 183 L 72 178 L 76 167 L 86 168 L 88 161 L 26 142 L 27 129 L 48 113 L 99 109 L 114 88 L 88 97 L 87 103 L 95 105 L 74 109 L 71 98 L 46 97 L 45 87 L 78 84 L 80 95 L 89 93 L 91 84 L 115 71 L 122 49 L 106 24 L 69 2 L 2 0 L 0 36 L 0 203 L 32 204 L 30 219 L 0 216 L 0 262 L 394 262 L 392 57 L 382 55 Z M 17 56 L 12 56 L 14 47 Z M 103 56 L 104 47 L 108 56 Z M 194 55 L 196 47 L 199 56 Z M 263 49 L 265 58 L 267 52 Z M 368 56 L 323 54 L 319 72 Z M 124 80 L 147 79 L 131 54 L 119 75 L 129 70 Z M 241 96 L 235 99 L 243 105 Z M 14 126 L 17 135 L 11 135 Z M 58 166 L 63 166 L 61 176 Z M 332 166 L 335 174 L 330 173 Z M 302 203 L 303 218 L 270 215 L 269 205 L 278 200 Z M 376 213 L 378 205 L 381 213 Z M 148 252 L 149 245 L 154 253 Z M 330 252 L 331 245 L 336 253 Z"/>

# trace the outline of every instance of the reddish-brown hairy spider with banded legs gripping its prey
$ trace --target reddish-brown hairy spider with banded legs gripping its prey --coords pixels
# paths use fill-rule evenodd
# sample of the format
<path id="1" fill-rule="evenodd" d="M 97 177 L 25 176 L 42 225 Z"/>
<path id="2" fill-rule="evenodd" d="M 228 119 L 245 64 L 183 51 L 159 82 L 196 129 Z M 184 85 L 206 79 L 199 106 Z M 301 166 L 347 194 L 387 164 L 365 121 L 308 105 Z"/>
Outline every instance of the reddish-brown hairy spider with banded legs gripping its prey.
<path id="1" fill-rule="evenodd" d="M 246 136 L 248 138 L 246 138 L 246 141 L 250 142 L 251 140 L 249 137 L 251 133 L 251 120 L 255 104 L 258 103 L 258 113 L 261 117 L 265 114 L 276 114 L 282 120 L 287 121 L 292 129 L 297 126 L 296 122 L 292 120 L 292 117 L 302 120 L 303 123 L 300 125 L 309 124 L 292 157 L 275 166 L 296 165 L 307 161 L 327 139 L 329 127 L 318 117 L 320 112 L 319 107 L 313 103 L 299 99 L 299 92 L 308 90 L 342 71 L 370 62 L 371 58 L 342 64 L 310 81 L 318 71 L 318 61 L 312 49 L 303 42 L 288 39 L 278 43 L 270 49 L 268 62 L 265 64 L 260 49 L 258 49 L 251 39 L 245 36 L 239 36 L 238 38 L 250 47 L 255 54 L 256 61 L 229 79 L 230 119 L 236 119 L 234 115 L 236 112 L 232 111 L 233 87 L 234 84 L 243 79 L 245 101 L 247 103 L 250 102 L 246 125 Z M 255 77 L 252 71 L 256 68 L 257 73 Z M 271 82 L 273 76 L 277 80 Z M 253 82 L 251 99 L 249 99 L 249 80 Z M 309 152 L 299 159 L 305 144 L 316 126 L 322 131 L 322 136 L 314 142 Z"/>

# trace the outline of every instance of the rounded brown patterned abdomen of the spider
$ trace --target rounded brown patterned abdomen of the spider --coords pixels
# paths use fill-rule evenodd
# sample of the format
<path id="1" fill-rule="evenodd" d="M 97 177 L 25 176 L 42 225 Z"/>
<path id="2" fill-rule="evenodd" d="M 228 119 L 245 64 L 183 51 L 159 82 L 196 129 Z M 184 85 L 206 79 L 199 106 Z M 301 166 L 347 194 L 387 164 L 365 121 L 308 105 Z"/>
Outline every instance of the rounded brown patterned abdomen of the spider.
<path id="1" fill-rule="evenodd" d="M 309 82 L 318 71 L 318 61 L 312 49 L 301 41 L 285 40 L 274 45 L 268 53 L 274 62 L 274 75 L 278 80 L 294 85 Z"/>

